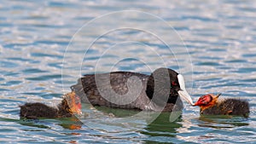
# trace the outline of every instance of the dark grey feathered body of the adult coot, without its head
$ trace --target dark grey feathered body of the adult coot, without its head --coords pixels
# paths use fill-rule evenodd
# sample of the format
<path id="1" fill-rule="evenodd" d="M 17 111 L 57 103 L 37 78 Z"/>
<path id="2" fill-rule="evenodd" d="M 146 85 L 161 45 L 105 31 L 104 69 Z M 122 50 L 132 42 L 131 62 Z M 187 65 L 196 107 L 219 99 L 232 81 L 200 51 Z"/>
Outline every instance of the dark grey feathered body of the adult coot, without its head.
<path id="1" fill-rule="evenodd" d="M 109 99 L 129 99 L 129 97 L 125 97 L 128 92 L 128 84 L 127 81 L 131 77 L 137 77 L 141 80 L 142 87 L 141 89 L 140 98 L 137 98 L 137 101 L 132 101 L 130 104 L 127 105 L 117 105 L 114 104 L 104 98 L 104 96 L 109 96 Z M 145 95 L 144 91 L 146 90 L 146 85 L 148 81 L 148 75 L 136 73 L 136 72 L 111 72 L 109 73 L 102 73 L 102 74 L 90 74 L 84 75 L 83 78 L 79 78 L 78 84 L 75 84 L 71 87 L 71 89 L 77 94 L 80 95 L 81 101 L 86 102 L 94 105 L 94 106 L 106 106 L 106 107 L 115 107 L 115 108 L 127 108 L 127 109 L 137 109 L 147 105 L 149 103 L 149 99 Z M 96 81 L 97 78 L 97 81 Z M 136 83 L 130 82 L 129 84 Z M 109 89 L 110 88 L 110 89 Z M 101 91 L 99 91 L 100 89 Z M 110 97 L 111 90 L 120 95 L 119 98 L 117 97 Z M 104 93 L 104 96 L 101 94 Z M 136 96 L 136 95 L 135 95 Z M 141 104 L 142 106 L 137 106 L 136 103 Z"/>

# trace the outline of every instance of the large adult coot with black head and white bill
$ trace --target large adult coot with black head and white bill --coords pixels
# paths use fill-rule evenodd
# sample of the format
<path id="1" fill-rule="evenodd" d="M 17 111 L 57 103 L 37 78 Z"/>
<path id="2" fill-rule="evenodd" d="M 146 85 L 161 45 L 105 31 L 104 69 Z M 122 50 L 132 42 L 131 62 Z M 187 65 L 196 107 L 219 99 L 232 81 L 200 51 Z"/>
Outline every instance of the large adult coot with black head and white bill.
<path id="1" fill-rule="evenodd" d="M 183 76 L 167 68 L 156 69 L 151 75 L 137 72 L 87 74 L 71 89 L 82 102 L 93 106 L 172 112 L 183 108 L 179 96 L 194 105 Z"/>

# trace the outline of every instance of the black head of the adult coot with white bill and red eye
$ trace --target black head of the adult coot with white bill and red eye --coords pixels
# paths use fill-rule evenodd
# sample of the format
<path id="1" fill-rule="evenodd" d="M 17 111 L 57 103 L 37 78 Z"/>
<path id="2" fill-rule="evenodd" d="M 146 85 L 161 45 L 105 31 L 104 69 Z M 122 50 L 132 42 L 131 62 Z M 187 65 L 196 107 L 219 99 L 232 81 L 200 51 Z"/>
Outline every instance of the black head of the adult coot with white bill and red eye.
<path id="1" fill-rule="evenodd" d="M 146 93 L 150 99 L 154 99 L 155 103 L 163 104 L 166 102 L 163 97 L 167 95 L 167 103 L 175 104 L 179 95 L 184 101 L 194 105 L 185 88 L 183 76 L 172 69 L 159 68 L 155 70 L 148 78 Z"/>

